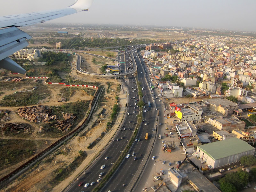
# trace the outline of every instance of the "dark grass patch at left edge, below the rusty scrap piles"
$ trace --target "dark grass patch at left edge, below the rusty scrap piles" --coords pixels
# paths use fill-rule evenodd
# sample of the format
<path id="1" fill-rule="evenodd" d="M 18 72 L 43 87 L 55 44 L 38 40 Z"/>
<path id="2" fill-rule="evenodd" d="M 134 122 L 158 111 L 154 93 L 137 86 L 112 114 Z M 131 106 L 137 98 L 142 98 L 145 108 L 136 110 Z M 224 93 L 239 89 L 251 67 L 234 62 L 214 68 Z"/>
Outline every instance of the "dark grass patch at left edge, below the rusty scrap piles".
<path id="1" fill-rule="evenodd" d="M 0 170 L 33 156 L 46 140 L 0 139 Z"/>

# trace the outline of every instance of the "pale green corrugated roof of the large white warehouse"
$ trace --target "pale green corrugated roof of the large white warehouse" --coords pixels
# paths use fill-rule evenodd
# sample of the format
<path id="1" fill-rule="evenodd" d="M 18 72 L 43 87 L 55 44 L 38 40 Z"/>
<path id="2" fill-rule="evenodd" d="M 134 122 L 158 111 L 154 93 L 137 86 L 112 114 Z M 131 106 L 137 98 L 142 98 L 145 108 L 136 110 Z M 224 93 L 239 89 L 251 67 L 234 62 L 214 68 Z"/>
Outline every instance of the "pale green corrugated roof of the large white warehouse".
<path id="1" fill-rule="evenodd" d="M 243 153 L 254 149 L 251 145 L 238 138 L 230 138 L 198 146 L 212 159 L 221 159 L 227 156 Z"/>

